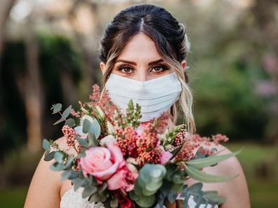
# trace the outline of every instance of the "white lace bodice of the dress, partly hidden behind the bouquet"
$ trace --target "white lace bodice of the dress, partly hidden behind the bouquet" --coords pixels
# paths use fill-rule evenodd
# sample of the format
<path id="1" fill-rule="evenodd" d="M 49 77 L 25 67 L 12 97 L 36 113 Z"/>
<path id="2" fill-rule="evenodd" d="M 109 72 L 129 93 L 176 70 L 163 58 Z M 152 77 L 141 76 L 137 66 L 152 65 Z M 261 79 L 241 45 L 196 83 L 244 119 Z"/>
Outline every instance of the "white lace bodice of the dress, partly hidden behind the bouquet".
<path id="1" fill-rule="evenodd" d="M 95 208 L 94 203 L 88 202 L 88 197 L 85 199 L 82 198 L 82 190 L 83 188 L 78 188 L 77 191 L 74 191 L 73 186 L 71 189 L 67 190 L 64 195 L 62 195 L 61 201 L 60 201 L 60 208 Z M 188 200 L 188 207 L 189 208 L 195 208 L 196 202 L 193 200 L 193 196 L 190 197 Z M 200 208 L 205 208 L 206 206 L 202 204 Z M 101 207 L 104 208 L 104 207 Z M 157 207 L 159 208 L 159 205 Z M 164 207 L 165 208 L 165 207 Z M 212 207 L 211 205 L 208 205 L 206 208 L 218 208 L 218 206 Z"/>

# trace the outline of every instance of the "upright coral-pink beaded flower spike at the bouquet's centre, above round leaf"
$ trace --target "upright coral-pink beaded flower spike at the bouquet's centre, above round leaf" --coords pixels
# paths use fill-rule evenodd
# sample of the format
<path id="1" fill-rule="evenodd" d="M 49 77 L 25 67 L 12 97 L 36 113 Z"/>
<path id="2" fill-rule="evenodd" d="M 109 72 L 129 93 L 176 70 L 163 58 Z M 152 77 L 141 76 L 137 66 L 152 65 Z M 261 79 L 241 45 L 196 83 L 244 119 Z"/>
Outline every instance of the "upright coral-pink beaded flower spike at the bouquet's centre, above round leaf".
<path id="1" fill-rule="evenodd" d="M 159 139 L 157 137 L 157 130 L 154 129 L 152 123 L 147 123 L 136 141 L 138 146 L 138 157 L 136 162 L 138 165 L 143 166 L 145 163 L 160 163 Z"/>

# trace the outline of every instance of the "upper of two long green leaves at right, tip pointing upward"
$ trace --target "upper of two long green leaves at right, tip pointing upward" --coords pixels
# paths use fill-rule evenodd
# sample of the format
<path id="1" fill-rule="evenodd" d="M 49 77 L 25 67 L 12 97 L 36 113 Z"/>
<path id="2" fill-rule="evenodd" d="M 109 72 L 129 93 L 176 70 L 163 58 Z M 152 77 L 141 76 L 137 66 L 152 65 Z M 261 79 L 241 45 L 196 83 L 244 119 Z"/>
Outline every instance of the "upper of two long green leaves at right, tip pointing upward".
<path id="1" fill-rule="evenodd" d="M 242 150 L 242 148 L 241 148 L 241 150 Z M 206 158 L 190 160 L 188 162 L 185 162 L 185 164 L 187 166 L 196 167 L 196 168 L 209 167 L 210 165 L 214 165 L 218 162 L 231 158 L 234 155 L 237 155 L 238 153 L 241 152 L 241 150 L 239 150 L 235 153 L 229 153 L 226 155 L 210 155 L 209 157 L 206 157 Z"/>

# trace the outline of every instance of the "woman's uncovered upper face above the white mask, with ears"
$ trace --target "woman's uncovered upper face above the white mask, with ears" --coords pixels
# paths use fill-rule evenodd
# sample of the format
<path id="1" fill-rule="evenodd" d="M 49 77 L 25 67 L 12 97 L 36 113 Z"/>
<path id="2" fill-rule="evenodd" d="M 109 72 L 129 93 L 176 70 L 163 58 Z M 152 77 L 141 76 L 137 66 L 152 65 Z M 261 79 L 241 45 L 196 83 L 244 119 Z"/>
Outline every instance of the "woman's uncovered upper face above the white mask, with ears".
<path id="1" fill-rule="evenodd" d="M 185 60 L 181 64 L 185 69 Z M 100 62 L 100 69 L 104 74 L 104 62 Z M 161 59 L 154 42 L 143 33 L 135 35 L 124 46 L 112 69 L 114 74 L 137 81 L 148 81 L 172 72 L 173 69 Z"/>

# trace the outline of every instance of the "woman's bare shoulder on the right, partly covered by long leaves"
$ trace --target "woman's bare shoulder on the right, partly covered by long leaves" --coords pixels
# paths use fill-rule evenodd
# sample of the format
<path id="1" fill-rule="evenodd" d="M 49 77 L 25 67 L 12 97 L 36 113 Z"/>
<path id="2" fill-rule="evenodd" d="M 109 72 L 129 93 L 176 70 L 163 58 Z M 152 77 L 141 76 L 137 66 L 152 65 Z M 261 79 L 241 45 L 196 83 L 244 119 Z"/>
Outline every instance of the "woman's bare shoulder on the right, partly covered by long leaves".
<path id="1" fill-rule="evenodd" d="M 220 144 L 216 145 L 213 142 L 209 146 L 204 145 L 204 147 L 217 148 L 220 151 L 218 155 L 232 153 L 227 147 Z M 225 203 L 220 206 L 221 208 L 251 207 L 246 177 L 236 156 L 218 162 L 218 165 L 214 167 L 207 167 L 204 172 L 221 176 L 236 176 L 230 181 L 204 184 L 204 188 L 218 190 L 219 195 L 225 197 Z"/>

